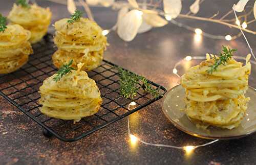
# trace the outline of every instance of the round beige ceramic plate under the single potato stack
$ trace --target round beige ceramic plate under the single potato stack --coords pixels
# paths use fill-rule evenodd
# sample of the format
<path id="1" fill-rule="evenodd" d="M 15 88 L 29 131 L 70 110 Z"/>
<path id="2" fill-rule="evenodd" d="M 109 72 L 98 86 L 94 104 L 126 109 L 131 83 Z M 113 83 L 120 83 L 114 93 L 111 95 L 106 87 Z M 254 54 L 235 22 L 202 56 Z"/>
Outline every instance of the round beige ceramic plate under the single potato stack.
<path id="1" fill-rule="evenodd" d="M 190 135 L 208 139 L 240 138 L 256 132 L 256 90 L 249 87 L 245 96 L 251 98 L 248 103 L 246 115 L 241 125 L 232 130 L 221 128 L 203 130 L 197 128 L 196 125 L 187 118 L 186 114 L 180 110 L 185 107 L 183 101 L 185 89 L 181 85 L 175 86 L 165 93 L 162 100 L 162 110 L 170 122 L 181 131 Z"/>

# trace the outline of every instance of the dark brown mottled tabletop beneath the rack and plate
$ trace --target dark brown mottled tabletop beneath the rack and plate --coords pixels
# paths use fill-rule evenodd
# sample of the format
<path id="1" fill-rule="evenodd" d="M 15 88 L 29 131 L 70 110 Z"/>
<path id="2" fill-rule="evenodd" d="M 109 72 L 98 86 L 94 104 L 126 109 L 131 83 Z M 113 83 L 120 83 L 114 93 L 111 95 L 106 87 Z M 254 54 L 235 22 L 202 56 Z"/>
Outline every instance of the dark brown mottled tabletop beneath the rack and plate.
<path id="1" fill-rule="evenodd" d="M 7 15 L 14 1 L 0 0 L 0 11 Z M 53 21 L 69 16 L 66 8 L 46 1 Z M 191 1 L 192 3 L 193 1 Z M 218 10 L 227 10 L 232 2 L 222 4 L 205 2 L 200 15 L 211 16 Z M 211 6 L 211 9 L 209 9 Z M 188 8 L 188 6 L 184 7 Z M 207 9 L 207 10 L 204 10 Z M 95 20 L 103 28 L 115 23 L 116 12 L 93 8 Z M 237 30 L 194 20 L 181 20 L 207 32 L 226 35 Z M 252 26 L 255 24 L 252 24 Z M 220 28 L 223 30 L 220 31 Z M 255 36 L 246 34 L 255 48 Z M 179 83 L 172 74 L 175 63 L 186 55 L 218 53 L 221 45 L 239 49 L 238 54 L 249 53 L 243 38 L 236 41 L 213 40 L 203 37 L 202 43 L 194 42 L 194 34 L 175 25 L 138 35 L 132 42 L 124 42 L 115 32 L 108 36 L 110 46 L 105 58 L 153 80 L 167 88 Z M 254 75 L 253 75 L 254 76 Z M 255 87 L 255 82 L 252 84 Z M 254 101 L 254 100 L 252 100 Z M 187 135 L 176 129 L 161 112 L 160 101 L 130 116 L 131 130 L 146 142 L 197 145 L 208 142 Z M 123 119 L 75 143 L 45 138 L 41 128 L 10 103 L 0 98 L 0 164 L 254 164 L 256 137 L 251 135 L 237 140 L 226 140 L 199 148 L 191 155 L 181 150 L 157 148 L 138 144 L 132 146 L 127 137 L 127 122 Z"/>

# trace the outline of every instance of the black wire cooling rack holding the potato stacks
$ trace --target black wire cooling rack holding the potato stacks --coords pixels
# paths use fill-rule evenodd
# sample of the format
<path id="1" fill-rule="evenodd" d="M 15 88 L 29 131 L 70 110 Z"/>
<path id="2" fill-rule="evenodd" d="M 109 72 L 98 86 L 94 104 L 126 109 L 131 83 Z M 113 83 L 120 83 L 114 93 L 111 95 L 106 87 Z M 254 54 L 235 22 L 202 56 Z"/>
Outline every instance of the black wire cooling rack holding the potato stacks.
<path id="1" fill-rule="evenodd" d="M 29 62 L 14 73 L 0 75 L 0 95 L 16 106 L 20 111 L 28 115 L 33 121 L 43 128 L 45 136 L 56 136 L 60 140 L 73 142 L 85 137 L 105 126 L 108 126 L 123 117 L 138 111 L 139 109 L 159 100 L 139 89 L 138 95 L 133 99 L 120 98 L 117 65 L 103 60 L 102 65 L 88 72 L 100 89 L 103 103 L 98 113 L 84 117 L 80 122 L 54 119 L 40 113 L 38 104 L 40 94 L 38 89 L 47 77 L 56 73 L 56 67 L 52 64 L 51 55 L 56 51 L 53 38 L 48 34 L 44 39 L 33 45 L 34 54 Z M 149 81 L 164 94 L 166 89 Z M 136 102 L 138 107 L 128 109 L 128 105 Z"/>

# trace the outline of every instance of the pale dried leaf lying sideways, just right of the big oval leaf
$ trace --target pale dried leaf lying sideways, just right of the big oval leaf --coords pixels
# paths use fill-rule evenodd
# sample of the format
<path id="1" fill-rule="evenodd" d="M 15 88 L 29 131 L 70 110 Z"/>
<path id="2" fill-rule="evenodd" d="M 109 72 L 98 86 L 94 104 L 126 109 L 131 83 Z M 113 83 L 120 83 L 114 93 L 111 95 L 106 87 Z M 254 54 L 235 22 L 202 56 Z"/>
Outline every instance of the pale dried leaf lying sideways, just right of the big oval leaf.
<path id="1" fill-rule="evenodd" d="M 143 14 L 144 20 L 153 27 L 163 27 L 168 21 L 157 14 Z"/>

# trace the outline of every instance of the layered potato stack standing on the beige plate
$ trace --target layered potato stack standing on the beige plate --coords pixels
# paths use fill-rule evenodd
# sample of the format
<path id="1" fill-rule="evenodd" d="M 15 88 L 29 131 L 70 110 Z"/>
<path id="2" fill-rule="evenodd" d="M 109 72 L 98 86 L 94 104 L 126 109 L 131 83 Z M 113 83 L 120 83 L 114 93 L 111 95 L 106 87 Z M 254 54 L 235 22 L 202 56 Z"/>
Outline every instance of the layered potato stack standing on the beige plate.
<path id="1" fill-rule="evenodd" d="M 251 70 L 249 59 L 250 55 L 244 66 L 230 59 L 209 74 L 207 70 L 215 60 L 207 55 L 206 61 L 191 67 L 181 77 L 181 84 L 186 90 L 184 111 L 191 121 L 204 128 L 233 129 L 239 126 L 250 100 L 244 96 Z"/>

